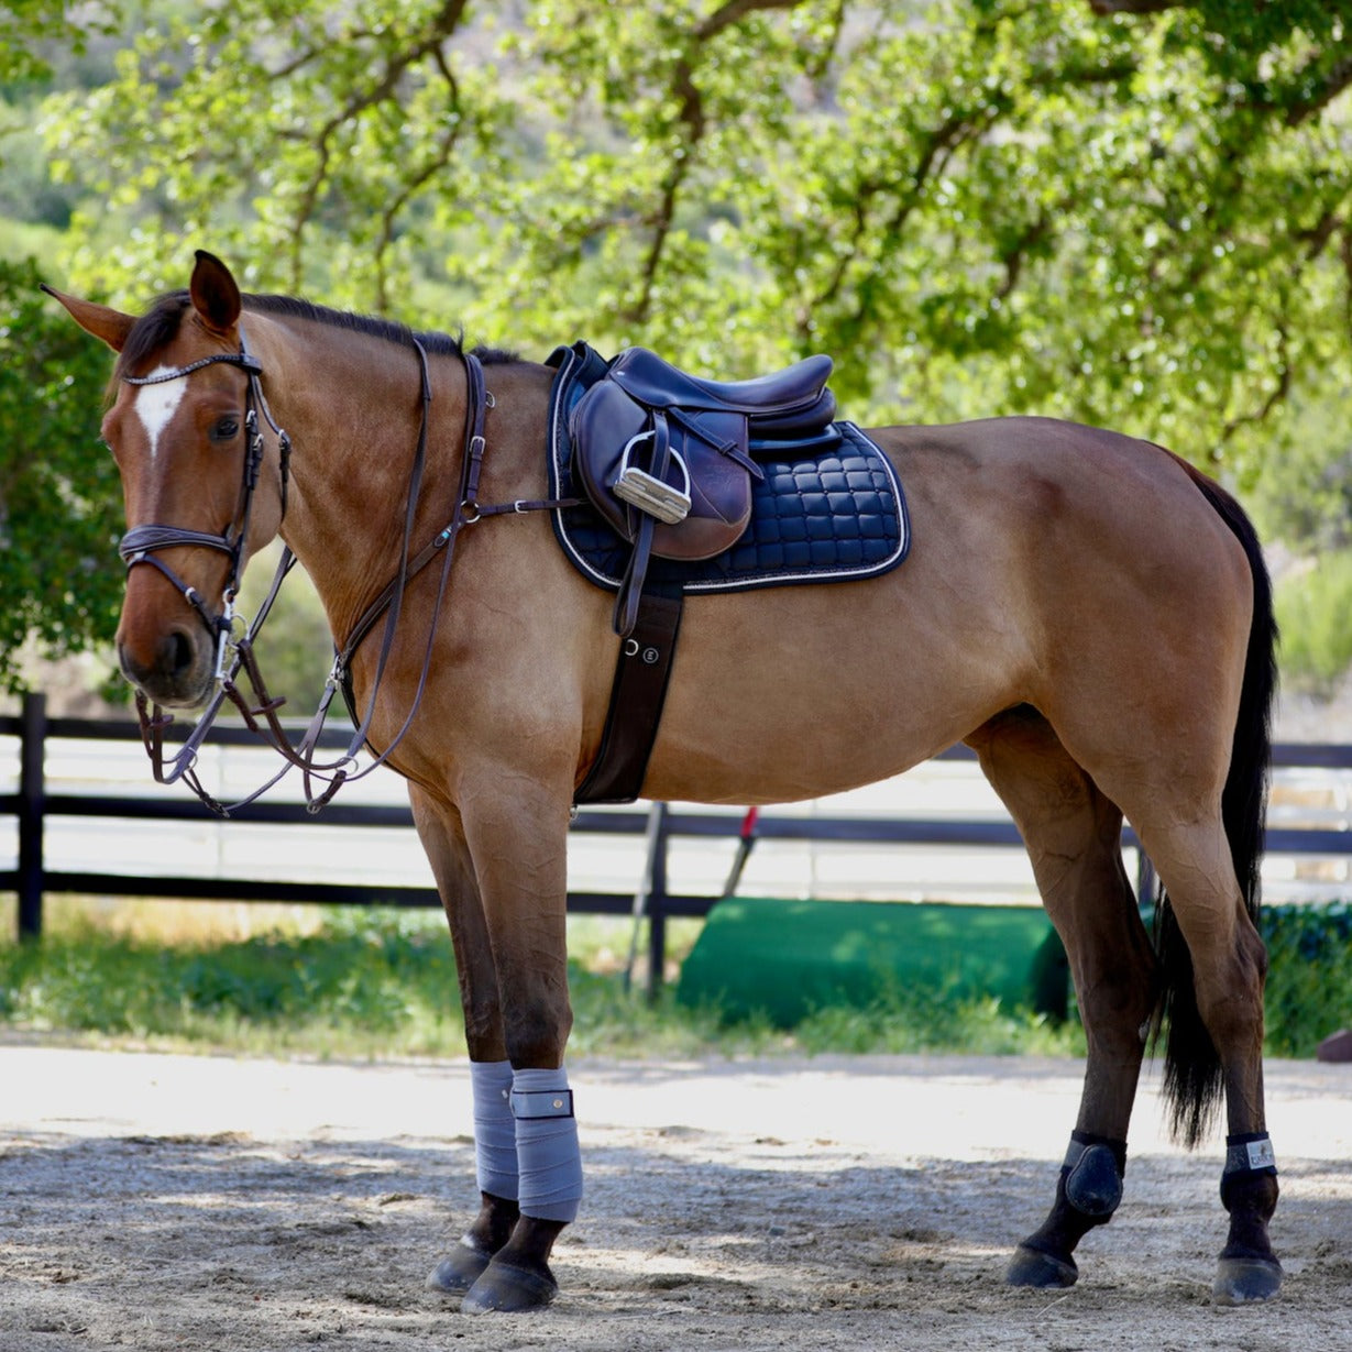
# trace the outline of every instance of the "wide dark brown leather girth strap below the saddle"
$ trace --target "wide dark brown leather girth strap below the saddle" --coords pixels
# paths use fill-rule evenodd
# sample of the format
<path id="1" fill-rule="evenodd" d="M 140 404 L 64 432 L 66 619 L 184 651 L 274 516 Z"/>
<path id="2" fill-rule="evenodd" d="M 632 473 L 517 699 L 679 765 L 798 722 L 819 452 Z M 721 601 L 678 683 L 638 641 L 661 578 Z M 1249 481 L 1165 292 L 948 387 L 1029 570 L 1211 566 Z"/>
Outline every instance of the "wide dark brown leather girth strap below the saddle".
<path id="1" fill-rule="evenodd" d="M 631 803 L 638 798 L 667 699 L 680 611 L 677 588 L 642 594 L 633 633 L 619 645 L 600 752 L 573 795 L 575 803 Z"/>

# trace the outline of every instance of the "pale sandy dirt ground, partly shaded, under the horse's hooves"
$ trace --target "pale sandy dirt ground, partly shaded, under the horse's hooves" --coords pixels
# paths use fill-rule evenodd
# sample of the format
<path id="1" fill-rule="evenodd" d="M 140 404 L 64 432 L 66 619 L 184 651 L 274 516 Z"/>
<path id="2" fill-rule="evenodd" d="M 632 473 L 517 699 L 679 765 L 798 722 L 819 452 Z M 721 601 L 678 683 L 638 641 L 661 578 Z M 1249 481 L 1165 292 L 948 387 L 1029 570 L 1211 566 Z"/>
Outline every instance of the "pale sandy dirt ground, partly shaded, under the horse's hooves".
<path id="1" fill-rule="evenodd" d="M 1352 1067 L 1275 1063 L 1287 1271 L 1211 1302 L 1220 1146 L 1142 1091 L 1080 1284 L 1002 1286 L 1045 1213 L 1080 1067 L 865 1057 L 579 1061 L 588 1194 L 542 1313 L 423 1278 L 475 1199 L 464 1064 L 0 1046 L 0 1349 L 550 1352 L 1352 1347 Z"/>

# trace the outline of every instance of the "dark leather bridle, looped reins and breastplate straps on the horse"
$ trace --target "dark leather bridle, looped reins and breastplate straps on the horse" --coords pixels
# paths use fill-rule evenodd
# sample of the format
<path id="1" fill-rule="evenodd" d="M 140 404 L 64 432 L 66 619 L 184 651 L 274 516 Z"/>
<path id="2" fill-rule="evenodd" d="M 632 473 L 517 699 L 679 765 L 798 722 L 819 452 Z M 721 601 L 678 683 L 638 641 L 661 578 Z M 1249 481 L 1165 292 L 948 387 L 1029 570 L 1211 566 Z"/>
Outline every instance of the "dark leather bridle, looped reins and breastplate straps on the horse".
<path id="1" fill-rule="evenodd" d="M 461 456 L 460 469 L 460 492 L 457 493 L 450 521 L 446 526 L 438 531 L 437 535 L 416 554 L 411 554 L 414 518 L 416 515 L 423 469 L 427 460 L 427 430 L 433 402 L 427 352 L 416 338 L 414 338 L 412 342 L 418 353 L 422 376 L 422 411 L 418 427 L 418 448 L 414 454 L 414 464 L 408 476 L 408 492 L 404 504 L 403 548 L 400 549 L 399 556 L 399 571 L 385 584 L 375 600 L 372 600 L 370 604 L 361 612 L 346 641 L 337 648 L 333 669 L 324 683 L 324 692 L 320 698 L 319 707 L 315 710 L 308 727 L 296 745 L 292 745 L 287 729 L 277 717 L 277 710 L 281 708 L 285 699 L 274 699 L 269 695 L 262 673 L 258 669 L 257 657 L 254 656 L 254 639 L 272 611 L 273 603 L 281 591 L 281 585 L 285 581 L 287 575 L 296 564 L 296 556 L 292 553 L 289 545 L 283 549 L 281 560 L 279 561 L 276 573 L 273 575 L 272 585 L 269 587 L 262 604 L 258 607 L 258 614 L 254 617 L 253 622 L 245 627 L 243 633 L 237 634 L 237 617 L 234 608 L 235 596 L 239 592 L 241 560 L 253 512 L 253 496 L 258 485 L 260 470 L 264 462 L 264 438 L 258 426 L 260 410 L 262 411 L 262 416 L 266 419 L 268 426 L 277 437 L 283 519 L 285 519 L 287 514 L 287 495 L 291 477 L 291 438 L 276 423 L 272 416 L 272 411 L 268 407 L 268 400 L 264 396 L 261 383 L 262 364 L 249 352 L 245 343 L 243 333 L 241 331 L 239 352 L 237 353 L 220 353 L 211 357 L 203 357 L 201 360 L 189 362 L 185 366 L 178 366 L 168 372 L 158 372 L 153 376 L 122 377 L 123 383 L 128 385 L 162 384 L 169 380 L 185 379 L 195 370 L 200 370 L 201 368 L 216 362 L 239 366 L 249 377 L 249 392 L 245 407 L 245 465 L 239 489 L 239 504 L 235 508 L 235 516 L 231 523 L 219 535 L 212 535 L 207 531 L 188 530 L 178 526 L 135 526 L 128 530 L 126 535 L 123 535 L 118 546 L 119 553 L 126 561 L 128 572 L 141 564 L 147 564 L 162 573 L 207 626 L 208 633 L 216 642 L 215 681 L 218 688 L 199 717 L 197 723 L 189 733 L 187 741 L 173 757 L 166 757 L 164 746 L 164 730 L 173 722 L 173 717 L 166 714 L 158 704 L 151 704 L 150 699 L 141 690 L 137 691 L 137 717 L 141 725 L 141 740 L 150 757 L 155 781 L 161 784 L 173 784 L 183 780 L 188 788 L 191 788 L 192 792 L 196 794 L 196 796 L 208 808 L 211 808 L 211 811 L 220 817 L 230 817 L 239 808 L 257 802 L 257 799 L 266 794 L 268 790 L 277 784 L 292 769 L 299 769 L 301 772 L 306 808 L 310 813 L 318 813 L 333 800 L 333 796 L 345 783 L 365 779 L 369 773 L 372 773 L 372 771 L 389 760 L 395 749 L 408 733 L 418 708 L 422 704 L 423 692 L 427 688 L 427 677 L 431 671 L 433 650 L 435 648 L 437 626 L 441 618 L 446 588 L 450 581 L 450 566 L 454 557 L 456 541 L 458 539 L 460 533 L 466 526 L 472 526 L 476 522 L 483 521 L 485 516 L 521 514 L 529 511 L 553 511 L 561 507 L 576 506 L 580 502 L 580 499 L 568 498 L 541 502 L 526 502 L 518 499 L 515 502 L 499 503 L 495 506 L 480 504 L 479 477 L 483 469 L 484 450 L 487 446 L 484 441 L 484 416 L 487 410 L 493 407 L 493 396 L 484 388 L 484 370 L 479 358 L 470 352 L 461 352 L 461 360 L 465 366 L 465 431 L 464 454 Z M 162 558 L 155 557 L 157 552 L 161 549 L 176 549 L 184 546 L 214 549 L 224 553 L 230 558 L 230 572 L 222 592 L 222 607 L 219 612 L 214 612 L 196 588 L 187 584 L 168 564 L 165 564 Z M 412 702 L 408 707 L 408 714 L 389 745 L 379 754 L 375 754 L 375 758 L 369 765 L 361 771 L 356 771 L 357 753 L 366 745 L 366 737 L 370 730 L 372 721 L 375 719 L 376 702 L 384 680 L 385 667 L 388 664 L 389 654 L 393 650 L 395 630 L 399 625 L 399 615 L 403 608 L 404 589 L 415 576 L 423 572 L 423 569 L 427 568 L 434 558 L 437 558 L 438 554 L 442 560 L 441 577 L 438 581 L 435 604 L 433 606 L 431 623 L 427 631 L 427 642 L 423 650 L 422 671 L 419 673 L 416 691 L 414 692 Z M 366 711 L 361 723 L 357 726 L 352 741 L 347 744 L 346 750 L 337 760 L 319 761 L 315 758 L 315 749 L 319 744 L 319 735 L 323 731 L 324 721 L 329 717 L 329 708 L 333 703 L 334 694 L 343 685 L 345 681 L 350 680 L 352 658 L 361 646 L 362 641 L 380 623 L 383 615 L 385 619 L 384 630 L 381 634 L 380 653 L 376 661 L 376 673 L 372 681 Z M 249 680 L 249 685 L 253 691 L 251 698 L 237 684 L 237 677 L 241 671 L 243 671 Z M 247 798 L 230 804 L 219 802 L 212 794 L 210 794 L 203 786 L 196 771 L 197 752 L 206 741 L 207 734 L 215 723 L 216 715 L 220 713 L 226 700 L 230 700 L 230 703 L 239 711 L 245 726 L 279 752 L 284 761 L 281 769 L 272 779 L 269 779 L 260 788 L 254 790 Z M 356 722 L 356 718 L 353 721 Z M 318 792 L 315 791 L 316 783 L 324 786 Z"/>

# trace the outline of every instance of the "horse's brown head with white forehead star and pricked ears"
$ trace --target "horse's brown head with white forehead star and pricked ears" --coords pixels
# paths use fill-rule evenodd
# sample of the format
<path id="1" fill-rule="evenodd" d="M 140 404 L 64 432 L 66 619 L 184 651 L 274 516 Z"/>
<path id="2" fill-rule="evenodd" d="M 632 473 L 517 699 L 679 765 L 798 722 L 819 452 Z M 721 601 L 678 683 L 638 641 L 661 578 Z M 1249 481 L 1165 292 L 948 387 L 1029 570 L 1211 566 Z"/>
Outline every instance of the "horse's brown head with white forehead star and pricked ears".
<path id="1" fill-rule="evenodd" d="M 260 426 L 260 411 L 265 425 L 270 415 L 239 324 L 239 287 L 199 251 L 188 291 L 139 319 L 46 289 L 118 353 L 103 419 L 128 527 L 118 660 L 155 703 L 200 704 L 245 562 L 277 534 L 284 510 L 287 443 Z"/>

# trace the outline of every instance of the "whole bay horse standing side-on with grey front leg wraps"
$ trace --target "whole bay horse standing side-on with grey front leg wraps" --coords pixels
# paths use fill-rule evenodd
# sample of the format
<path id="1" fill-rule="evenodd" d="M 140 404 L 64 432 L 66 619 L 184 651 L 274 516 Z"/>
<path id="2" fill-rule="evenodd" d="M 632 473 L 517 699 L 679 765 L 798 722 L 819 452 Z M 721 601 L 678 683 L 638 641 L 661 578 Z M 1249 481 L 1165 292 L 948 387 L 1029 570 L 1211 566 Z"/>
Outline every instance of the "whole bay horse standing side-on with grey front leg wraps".
<path id="1" fill-rule="evenodd" d="M 397 625 L 347 667 L 369 744 L 408 780 L 449 918 L 481 1194 L 429 1282 L 468 1311 L 545 1305 L 583 1179 L 564 1065 L 569 810 L 619 644 L 610 595 L 550 530 L 552 372 L 243 296 L 207 253 L 139 318 L 53 295 L 118 353 L 103 420 L 130 527 L 116 646 L 145 696 L 208 696 L 238 572 L 279 534 L 341 650 L 397 592 Z M 1076 1245 L 1121 1198 L 1163 1025 L 1176 1134 L 1201 1144 L 1225 1102 L 1215 1297 L 1267 1299 L 1282 1268 L 1255 917 L 1276 630 L 1255 531 L 1201 472 L 1113 431 L 994 418 L 869 435 L 904 484 L 904 566 L 691 598 L 642 796 L 788 802 L 975 748 L 1064 940 L 1088 1044 L 1055 1202 L 1007 1280 L 1076 1279 Z M 493 507 L 465 506 L 468 477 Z M 445 566 L 415 575 L 423 539 L 449 541 Z M 1124 817 L 1164 888 L 1156 941 Z"/>

